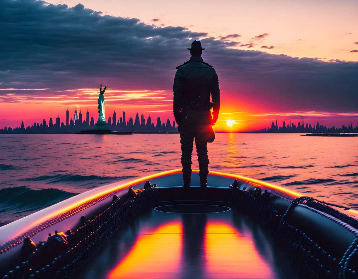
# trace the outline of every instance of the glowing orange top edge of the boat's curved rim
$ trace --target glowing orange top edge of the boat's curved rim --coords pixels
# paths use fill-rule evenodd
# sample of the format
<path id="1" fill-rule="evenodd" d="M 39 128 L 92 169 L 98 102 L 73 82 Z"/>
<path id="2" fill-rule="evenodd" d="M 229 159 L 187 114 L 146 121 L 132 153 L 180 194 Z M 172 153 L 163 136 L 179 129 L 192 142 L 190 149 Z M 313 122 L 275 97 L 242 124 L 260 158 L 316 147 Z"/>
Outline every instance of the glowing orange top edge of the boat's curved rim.
<path id="1" fill-rule="evenodd" d="M 80 211 L 91 207 L 92 205 L 105 200 L 112 195 L 129 188 L 130 186 L 135 186 L 143 183 L 146 180 L 151 180 L 155 178 L 160 178 L 163 176 L 169 176 L 173 174 L 180 174 L 181 169 L 163 171 L 156 174 L 148 175 L 142 178 L 137 178 L 135 180 L 125 180 L 120 181 L 119 183 L 112 183 L 109 185 L 101 186 L 96 189 L 89 190 L 85 193 L 76 195 L 72 198 L 54 204 L 48 208 L 42 209 L 38 212 L 35 212 L 29 216 L 21 218 L 17 221 L 14 221 L 10 224 L 7 224 L 3 227 L 0 227 L 0 243 L 5 243 L 12 239 L 14 246 L 21 243 L 24 237 L 33 236 L 35 233 L 45 230 L 45 228 L 52 226 L 53 224 L 60 222 L 64 219 L 67 219 Z M 193 173 L 198 173 L 198 170 L 193 170 Z M 280 191 L 281 193 L 287 194 L 292 198 L 298 198 L 304 196 L 298 192 L 289 190 L 287 188 L 273 185 L 265 181 L 247 178 L 245 176 L 240 176 L 236 174 L 227 174 L 217 171 L 209 171 L 209 175 L 221 176 L 224 178 L 238 179 L 239 181 L 251 184 L 256 187 L 264 187 L 267 189 L 274 189 Z M 168 185 L 170 186 L 170 185 Z M 349 209 L 344 211 L 344 213 L 350 214 L 352 216 L 358 217 L 358 211 L 354 209 Z M 14 236 L 16 236 L 14 238 Z M 6 250 L 8 246 L 6 245 Z"/>

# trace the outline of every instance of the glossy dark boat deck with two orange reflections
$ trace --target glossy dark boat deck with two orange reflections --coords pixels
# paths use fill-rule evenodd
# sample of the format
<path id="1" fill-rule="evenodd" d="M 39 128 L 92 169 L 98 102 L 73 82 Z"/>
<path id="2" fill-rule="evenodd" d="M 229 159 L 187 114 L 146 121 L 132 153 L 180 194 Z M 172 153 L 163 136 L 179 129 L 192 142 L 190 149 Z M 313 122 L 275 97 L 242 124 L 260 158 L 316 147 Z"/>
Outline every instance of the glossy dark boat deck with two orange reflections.
<path id="1" fill-rule="evenodd" d="M 117 230 L 74 278 L 290 278 L 289 257 L 226 202 L 158 202 Z"/>

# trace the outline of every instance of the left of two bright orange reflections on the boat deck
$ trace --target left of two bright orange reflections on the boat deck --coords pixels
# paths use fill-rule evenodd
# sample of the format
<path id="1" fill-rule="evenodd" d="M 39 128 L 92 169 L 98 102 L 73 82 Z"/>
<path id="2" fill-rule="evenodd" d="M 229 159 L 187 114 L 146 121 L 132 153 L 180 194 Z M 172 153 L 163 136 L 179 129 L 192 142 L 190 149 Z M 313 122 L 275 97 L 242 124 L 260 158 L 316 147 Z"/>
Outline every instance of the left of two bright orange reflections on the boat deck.
<path id="1" fill-rule="evenodd" d="M 178 278 L 182 233 L 182 223 L 171 222 L 140 235 L 107 278 Z"/>

